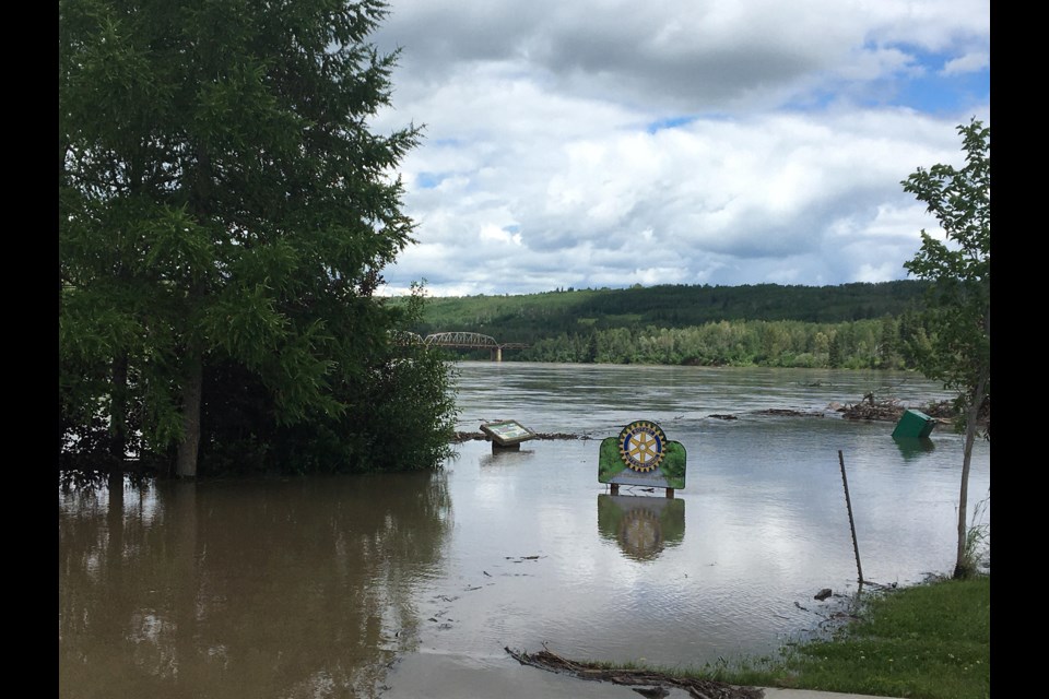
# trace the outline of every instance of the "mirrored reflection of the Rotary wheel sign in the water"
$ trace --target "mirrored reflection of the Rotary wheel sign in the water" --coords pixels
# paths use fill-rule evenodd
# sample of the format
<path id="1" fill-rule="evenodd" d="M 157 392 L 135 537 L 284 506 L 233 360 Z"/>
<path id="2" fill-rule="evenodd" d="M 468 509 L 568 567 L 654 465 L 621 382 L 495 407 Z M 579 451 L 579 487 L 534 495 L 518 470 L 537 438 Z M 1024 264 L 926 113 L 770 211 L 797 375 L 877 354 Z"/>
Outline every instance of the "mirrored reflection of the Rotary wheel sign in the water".
<path id="1" fill-rule="evenodd" d="M 598 531 L 634 560 L 651 560 L 685 536 L 685 501 L 629 495 L 598 496 Z"/>

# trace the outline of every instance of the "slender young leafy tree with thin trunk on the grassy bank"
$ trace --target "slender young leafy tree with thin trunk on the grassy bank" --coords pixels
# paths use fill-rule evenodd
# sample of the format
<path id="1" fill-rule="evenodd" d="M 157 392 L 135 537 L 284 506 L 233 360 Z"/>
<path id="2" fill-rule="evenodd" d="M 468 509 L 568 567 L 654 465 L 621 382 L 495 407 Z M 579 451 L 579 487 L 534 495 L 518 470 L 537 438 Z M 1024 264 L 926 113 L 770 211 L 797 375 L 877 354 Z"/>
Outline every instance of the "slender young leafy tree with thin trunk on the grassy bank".
<path id="1" fill-rule="evenodd" d="M 922 374 L 957 391 L 965 434 L 954 577 L 971 572 L 966 510 L 969 464 L 982 408 L 991 396 L 991 129 L 973 119 L 958 127 L 965 165 L 919 168 L 901 183 L 928 205 L 946 242 L 924 230 L 921 249 L 904 268 L 933 282 L 929 343 L 918 351 Z M 983 433 L 990 439 L 990 427 Z"/>

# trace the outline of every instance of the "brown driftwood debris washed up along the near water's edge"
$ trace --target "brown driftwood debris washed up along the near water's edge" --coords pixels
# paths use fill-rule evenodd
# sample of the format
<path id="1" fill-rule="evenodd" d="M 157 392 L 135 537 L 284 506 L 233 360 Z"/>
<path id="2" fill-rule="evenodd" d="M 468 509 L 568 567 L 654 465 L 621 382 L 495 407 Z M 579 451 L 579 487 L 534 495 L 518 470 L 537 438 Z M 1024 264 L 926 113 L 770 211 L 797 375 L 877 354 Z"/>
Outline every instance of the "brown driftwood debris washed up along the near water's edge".
<path id="1" fill-rule="evenodd" d="M 545 645 L 538 653 L 511 651 L 509 648 L 505 650 L 522 665 L 564 673 L 579 679 L 628 686 L 645 697 L 665 697 L 669 694 L 665 690 L 667 687 L 683 689 L 695 699 L 763 699 L 765 697 L 765 690 L 759 687 L 739 687 L 714 679 L 679 677 L 657 671 L 608 667 L 597 663 L 571 661 L 557 655 Z"/>

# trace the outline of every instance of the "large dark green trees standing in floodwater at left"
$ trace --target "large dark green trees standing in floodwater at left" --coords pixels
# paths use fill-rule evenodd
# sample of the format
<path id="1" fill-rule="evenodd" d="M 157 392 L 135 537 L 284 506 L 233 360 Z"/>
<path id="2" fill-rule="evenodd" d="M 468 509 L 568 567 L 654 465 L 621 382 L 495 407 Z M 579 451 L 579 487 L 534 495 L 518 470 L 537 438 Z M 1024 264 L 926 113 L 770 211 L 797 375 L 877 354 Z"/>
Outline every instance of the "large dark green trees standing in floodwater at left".
<path id="1" fill-rule="evenodd" d="M 448 428 L 447 367 L 393 340 L 417 309 L 374 297 L 412 242 L 391 171 L 420 138 L 369 129 L 386 12 L 59 0 L 60 454 L 101 422 L 113 455 L 134 436 L 193 476 L 215 438 L 300 455 L 327 430 L 329 467 L 376 467 L 396 425 L 346 420 Z"/>

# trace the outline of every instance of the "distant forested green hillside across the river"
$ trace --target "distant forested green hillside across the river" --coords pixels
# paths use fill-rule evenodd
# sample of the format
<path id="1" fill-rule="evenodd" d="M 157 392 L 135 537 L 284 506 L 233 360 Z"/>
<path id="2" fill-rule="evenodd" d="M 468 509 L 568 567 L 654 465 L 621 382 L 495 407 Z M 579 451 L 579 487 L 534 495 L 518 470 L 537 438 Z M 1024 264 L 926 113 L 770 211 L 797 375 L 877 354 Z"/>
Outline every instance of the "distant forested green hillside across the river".
<path id="1" fill-rule="evenodd" d="M 416 332 L 528 345 L 504 360 L 904 369 L 928 346 L 926 289 L 897 281 L 432 298 Z"/>

